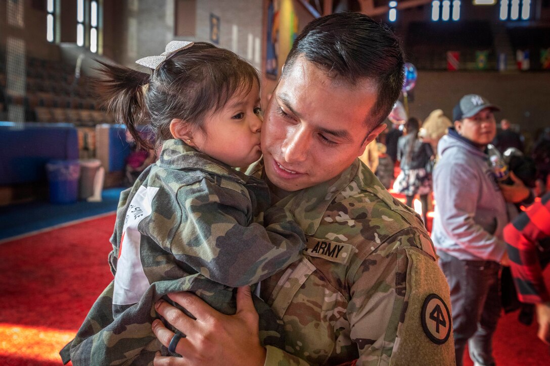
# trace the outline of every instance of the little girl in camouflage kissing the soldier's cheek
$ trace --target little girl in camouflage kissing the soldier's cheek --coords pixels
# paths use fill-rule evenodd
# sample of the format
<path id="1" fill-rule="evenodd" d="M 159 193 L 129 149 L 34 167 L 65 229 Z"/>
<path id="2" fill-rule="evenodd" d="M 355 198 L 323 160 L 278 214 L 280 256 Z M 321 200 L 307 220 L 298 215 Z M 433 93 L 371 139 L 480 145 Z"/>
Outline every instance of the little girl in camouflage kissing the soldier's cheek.
<path id="1" fill-rule="evenodd" d="M 231 168 L 261 156 L 255 69 L 202 42 L 173 41 L 138 63 L 152 75 L 104 64 L 100 92 L 140 145 L 147 141 L 136 123 L 148 121 L 162 151 L 120 195 L 109 254 L 114 280 L 61 351 L 64 363 L 152 364 L 161 349 L 151 331 L 159 298 L 194 291 L 233 314 L 233 287 L 284 269 L 304 247 L 290 215 L 268 209 L 267 185 Z M 282 322 L 255 303 L 263 344 L 282 347 Z"/>

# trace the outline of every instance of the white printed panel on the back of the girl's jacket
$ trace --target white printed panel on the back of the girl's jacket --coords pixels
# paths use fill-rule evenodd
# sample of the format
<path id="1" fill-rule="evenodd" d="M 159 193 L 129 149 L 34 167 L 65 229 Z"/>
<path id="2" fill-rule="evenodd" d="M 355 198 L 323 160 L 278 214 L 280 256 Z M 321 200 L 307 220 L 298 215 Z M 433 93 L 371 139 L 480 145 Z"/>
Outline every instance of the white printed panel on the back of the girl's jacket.
<path id="1" fill-rule="evenodd" d="M 157 187 L 139 187 L 126 212 L 118 249 L 117 273 L 114 276 L 113 304 L 138 303 L 149 288 L 149 280 L 141 265 L 141 233 L 138 225 L 151 214 L 151 202 L 157 191 Z"/>

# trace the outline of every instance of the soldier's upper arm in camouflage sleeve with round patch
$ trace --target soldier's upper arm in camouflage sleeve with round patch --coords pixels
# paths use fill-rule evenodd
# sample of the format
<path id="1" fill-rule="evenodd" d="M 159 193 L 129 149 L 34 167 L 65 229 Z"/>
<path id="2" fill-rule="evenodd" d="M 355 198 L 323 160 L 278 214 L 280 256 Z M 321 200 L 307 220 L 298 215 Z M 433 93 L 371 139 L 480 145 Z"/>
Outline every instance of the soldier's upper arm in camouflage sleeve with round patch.
<path id="1" fill-rule="evenodd" d="M 359 364 L 454 364 L 447 281 L 421 247 L 420 235 L 404 230 L 357 269 L 348 319 Z"/>

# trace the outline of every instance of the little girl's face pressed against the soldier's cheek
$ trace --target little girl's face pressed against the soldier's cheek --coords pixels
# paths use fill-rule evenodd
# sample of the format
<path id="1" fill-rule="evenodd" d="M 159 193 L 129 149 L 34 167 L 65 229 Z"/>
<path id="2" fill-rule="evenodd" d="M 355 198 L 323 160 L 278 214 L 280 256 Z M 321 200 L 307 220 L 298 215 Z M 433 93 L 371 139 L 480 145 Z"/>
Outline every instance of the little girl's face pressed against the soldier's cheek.
<path id="1" fill-rule="evenodd" d="M 217 113 L 205 118 L 206 134 L 193 143 L 199 151 L 231 167 L 246 167 L 260 159 L 260 87 L 236 93 Z"/>

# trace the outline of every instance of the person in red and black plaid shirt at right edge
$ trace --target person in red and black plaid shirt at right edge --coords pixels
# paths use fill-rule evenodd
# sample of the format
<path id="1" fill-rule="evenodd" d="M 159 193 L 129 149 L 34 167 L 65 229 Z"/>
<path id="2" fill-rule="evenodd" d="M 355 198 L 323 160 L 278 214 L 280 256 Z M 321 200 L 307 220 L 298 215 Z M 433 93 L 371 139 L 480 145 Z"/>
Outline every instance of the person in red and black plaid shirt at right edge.
<path id="1" fill-rule="evenodd" d="M 550 344 L 550 295 L 544 284 L 539 248 L 550 249 L 550 192 L 504 228 L 510 270 L 518 298 L 536 306 L 538 337 Z"/>

